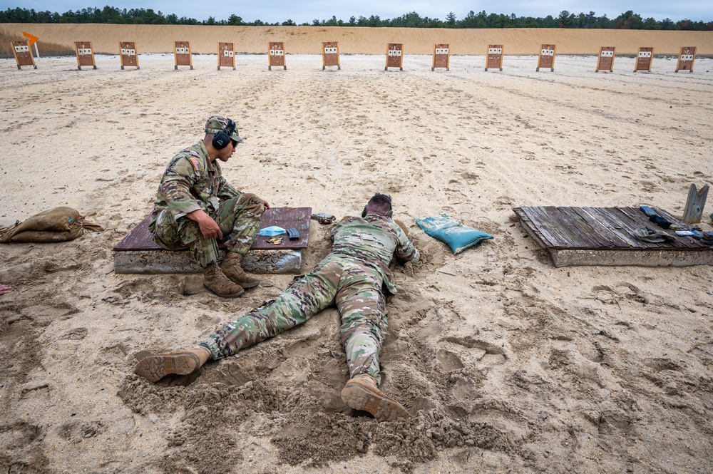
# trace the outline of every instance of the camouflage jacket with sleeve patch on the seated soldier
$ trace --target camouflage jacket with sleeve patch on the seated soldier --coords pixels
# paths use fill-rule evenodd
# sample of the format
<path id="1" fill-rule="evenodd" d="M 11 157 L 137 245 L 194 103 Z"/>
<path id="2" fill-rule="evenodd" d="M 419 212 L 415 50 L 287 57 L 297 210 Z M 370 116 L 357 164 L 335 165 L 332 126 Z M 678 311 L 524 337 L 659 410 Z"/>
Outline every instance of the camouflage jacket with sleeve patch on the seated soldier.
<path id="1" fill-rule="evenodd" d="M 176 220 L 199 209 L 211 214 L 220 201 L 241 194 L 222 177 L 217 160 L 210 163 L 201 140 L 181 150 L 166 166 L 148 230 L 155 230 L 156 217 L 164 209 L 168 208 Z"/>

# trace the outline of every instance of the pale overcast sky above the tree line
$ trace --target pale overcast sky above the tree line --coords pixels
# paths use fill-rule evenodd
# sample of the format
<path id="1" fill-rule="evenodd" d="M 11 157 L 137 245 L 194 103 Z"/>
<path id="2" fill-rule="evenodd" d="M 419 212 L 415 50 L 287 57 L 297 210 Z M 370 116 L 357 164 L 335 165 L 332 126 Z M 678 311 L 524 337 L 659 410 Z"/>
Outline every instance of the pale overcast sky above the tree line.
<path id="1" fill-rule="evenodd" d="M 270 0 L 270 1 L 235 1 L 209 2 L 196 0 L 105 0 L 103 3 L 91 3 L 86 0 L 0 0 L 0 9 L 34 9 L 36 11 L 52 11 L 64 13 L 85 8 L 103 8 L 114 6 L 118 9 L 153 9 L 162 14 L 176 14 L 195 18 L 199 21 L 212 16 L 217 20 L 226 19 L 231 14 L 241 16 L 244 21 L 260 19 L 275 23 L 288 19 L 297 24 L 312 23 L 312 20 L 327 20 L 337 16 L 338 20 L 349 21 L 350 16 L 371 15 L 381 19 L 391 19 L 396 16 L 416 11 L 421 16 L 445 19 L 448 12 L 453 11 L 456 19 L 462 19 L 468 11 L 485 10 L 488 14 L 515 14 L 515 16 L 558 16 L 560 11 L 567 10 L 573 14 L 594 11 L 597 16 L 606 14 L 610 19 L 616 18 L 625 11 L 632 10 L 647 19 L 652 16 L 657 21 L 669 18 L 673 21 L 689 19 L 694 21 L 713 21 L 712 0 L 601 0 L 585 2 L 581 0 L 501 0 L 493 2 L 476 2 L 465 0 Z"/>

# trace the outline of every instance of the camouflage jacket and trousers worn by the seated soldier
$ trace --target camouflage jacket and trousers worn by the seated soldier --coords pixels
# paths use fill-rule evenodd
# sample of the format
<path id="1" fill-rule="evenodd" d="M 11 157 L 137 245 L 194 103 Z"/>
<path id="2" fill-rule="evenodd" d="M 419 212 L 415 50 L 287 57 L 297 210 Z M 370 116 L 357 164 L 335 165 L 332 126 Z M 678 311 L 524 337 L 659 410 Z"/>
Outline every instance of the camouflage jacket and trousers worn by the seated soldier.
<path id="1" fill-rule="evenodd" d="M 182 150 L 168 163 L 161 178 L 148 225 L 153 240 L 168 250 L 190 248 L 201 267 L 217 262 L 215 239 L 205 239 L 198 222 L 185 217 L 203 210 L 227 236 L 228 252 L 245 254 L 255 239 L 265 205 L 256 195 L 232 187 L 210 163 L 202 141 Z"/>

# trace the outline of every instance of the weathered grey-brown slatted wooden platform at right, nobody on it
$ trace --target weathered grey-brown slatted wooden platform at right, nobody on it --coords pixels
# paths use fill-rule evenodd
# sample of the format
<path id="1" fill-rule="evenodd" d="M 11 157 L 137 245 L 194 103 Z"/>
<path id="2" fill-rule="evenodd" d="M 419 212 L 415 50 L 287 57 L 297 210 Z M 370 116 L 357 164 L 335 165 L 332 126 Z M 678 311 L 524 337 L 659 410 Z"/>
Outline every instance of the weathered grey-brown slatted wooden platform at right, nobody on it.
<path id="1" fill-rule="evenodd" d="M 687 230 L 692 226 L 664 210 L 656 214 Z M 662 230 L 638 207 L 517 207 L 513 209 L 535 242 L 547 249 L 555 267 L 687 267 L 713 265 L 713 246 L 694 237 Z M 637 229 L 662 230 L 676 239 L 650 243 L 634 237 Z"/>

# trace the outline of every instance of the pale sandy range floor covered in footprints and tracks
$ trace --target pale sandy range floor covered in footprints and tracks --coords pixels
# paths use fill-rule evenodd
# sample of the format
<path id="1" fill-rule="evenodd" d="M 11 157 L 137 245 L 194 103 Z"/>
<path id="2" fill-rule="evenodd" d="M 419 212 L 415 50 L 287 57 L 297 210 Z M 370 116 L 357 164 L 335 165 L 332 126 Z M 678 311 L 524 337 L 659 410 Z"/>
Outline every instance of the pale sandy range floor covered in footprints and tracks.
<path id="1" fill-rule="evenodd" d="M 689 185 L 713 181 L 713 60 L 677 74 L 660 58 L 652 73 L 632 73 L 633 58 L 615 73 L 594 73 L 593 56 L 560 56 L 554 73 L 536 62 L 0 61 L 0 226 L 69 205 L 106 229 L 0 247 L 14 288 L 0 296 L 0 470 L 709 473 L 713 268 L 555 268 L 512 208 L 681 215 Z M 424 262 L 395 269 L 383 388 L 412 420 L 377 424 L 342 404 L 335 309 L 195 376 L 133 374 L 145 351 L 192 346 L 292 278 L 262 276 L 228 301 L 195 275 L 113 272 L 113 245 L 213 113 L 246 139 L 227 179 L 272 205 L 342 217 L 375 191 L 393 197 Z M 442 212 L 495 239 L 453 256 L 415 224 Z M 304 269 L 328 251 L 313 223 Z"/>

